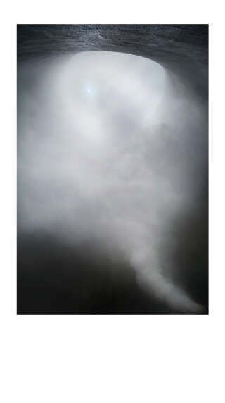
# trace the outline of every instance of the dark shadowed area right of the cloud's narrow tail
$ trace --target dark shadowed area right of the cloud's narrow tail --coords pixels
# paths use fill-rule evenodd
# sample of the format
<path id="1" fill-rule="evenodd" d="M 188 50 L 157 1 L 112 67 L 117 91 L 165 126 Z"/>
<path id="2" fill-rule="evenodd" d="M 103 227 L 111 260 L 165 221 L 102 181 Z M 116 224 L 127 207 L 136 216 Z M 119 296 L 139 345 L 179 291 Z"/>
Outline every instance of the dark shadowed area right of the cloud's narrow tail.
<path id="1" fill-rule="evenodd" d="M 207 175 L 206 175 L 207 176 Z M 177 213 L 165 230 L 161 245 L 163 275 L 185 290 L 209 314 L 208 183 L 192 209 Z"/>

